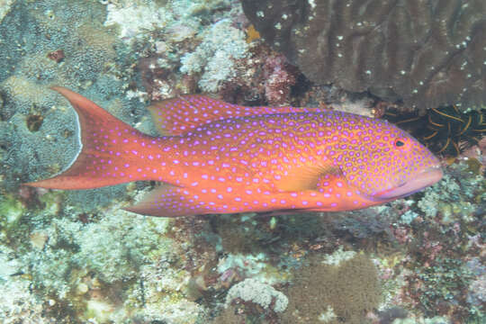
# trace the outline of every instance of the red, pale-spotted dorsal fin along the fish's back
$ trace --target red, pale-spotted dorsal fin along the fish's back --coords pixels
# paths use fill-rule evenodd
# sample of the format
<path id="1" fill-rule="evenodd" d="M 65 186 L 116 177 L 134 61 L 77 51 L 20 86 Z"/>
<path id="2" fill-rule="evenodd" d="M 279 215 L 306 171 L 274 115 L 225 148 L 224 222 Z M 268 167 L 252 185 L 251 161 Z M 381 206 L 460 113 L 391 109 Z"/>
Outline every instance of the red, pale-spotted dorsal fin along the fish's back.
<path id="1" fill-rule="evenodd" d="M 270 113 L 308 112 L 317 108 L 300 107 L 247 107 L 226 103 L 201 94 L 185 94 L 176 98 L 152 103 L 148 111 L 164 136 L 179 136 L 211 121 L 231 117 L 254 116 Z"/>

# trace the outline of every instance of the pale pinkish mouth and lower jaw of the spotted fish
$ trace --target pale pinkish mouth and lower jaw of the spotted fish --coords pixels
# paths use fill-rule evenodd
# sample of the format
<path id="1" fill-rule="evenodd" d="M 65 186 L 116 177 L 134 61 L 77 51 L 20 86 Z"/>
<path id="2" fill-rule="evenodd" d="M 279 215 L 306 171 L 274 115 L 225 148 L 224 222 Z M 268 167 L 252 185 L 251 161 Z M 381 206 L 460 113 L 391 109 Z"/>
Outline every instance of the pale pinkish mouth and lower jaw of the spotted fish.
<path id="1" fill-rule="evenodd" d="M 417 193 L 429 185 L 436 184 L 442 179 L 442 175 L 444 174 L 440 165 L 429 166 L 420 171 L 419 174 L 413 176 L 409 181 L 400 184 L 398 187 L 386 190 L 382 193 L 377 193 L 376 197 L 383 200 L 405 197 L 409 194 Z"/>

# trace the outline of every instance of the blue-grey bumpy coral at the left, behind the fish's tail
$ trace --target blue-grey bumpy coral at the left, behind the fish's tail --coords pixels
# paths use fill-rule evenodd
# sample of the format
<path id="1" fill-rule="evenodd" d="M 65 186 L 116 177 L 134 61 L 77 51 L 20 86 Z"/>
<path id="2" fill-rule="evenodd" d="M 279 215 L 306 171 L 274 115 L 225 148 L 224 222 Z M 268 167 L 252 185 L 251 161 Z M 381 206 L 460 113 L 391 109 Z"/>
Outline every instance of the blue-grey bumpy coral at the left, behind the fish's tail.
<path id="1" fill-rule="evenodd" d="M 16 1 L 0 23 L 0 174 L 9 190 L 57 173 L 76 156 L 74 112 L 49 86 L 91 93 L 124 121 L 139 119 L 138 102 L 116 97 L 124 85 L 113 72 L 116 33 L 103 27 L 104 9 L 96 2 Z M 115 196 L 105 194 L 105 202 Z"/>

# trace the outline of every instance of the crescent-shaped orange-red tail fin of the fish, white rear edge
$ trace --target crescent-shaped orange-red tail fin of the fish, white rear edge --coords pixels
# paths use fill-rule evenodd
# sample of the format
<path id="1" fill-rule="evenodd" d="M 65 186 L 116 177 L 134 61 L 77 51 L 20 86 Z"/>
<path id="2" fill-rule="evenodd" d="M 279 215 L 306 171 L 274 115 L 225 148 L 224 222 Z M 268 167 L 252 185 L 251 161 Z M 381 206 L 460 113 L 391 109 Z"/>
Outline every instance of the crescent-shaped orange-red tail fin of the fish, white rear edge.
<path id="1" fill-rule="evenodd" d="M 52 89 L 64 95 L 76 110 L 81 149 L 71 165 L 59 175 L 26 185 L 91 189 L 144 179 L 145 171 L 139 166 L 146 161 L 140 161 L 139 151 L 156 147 L 160 139 L 135 130 L 81 94 L 61 86 Z M 152 180 L 147 175 L 145 179 Z"/>

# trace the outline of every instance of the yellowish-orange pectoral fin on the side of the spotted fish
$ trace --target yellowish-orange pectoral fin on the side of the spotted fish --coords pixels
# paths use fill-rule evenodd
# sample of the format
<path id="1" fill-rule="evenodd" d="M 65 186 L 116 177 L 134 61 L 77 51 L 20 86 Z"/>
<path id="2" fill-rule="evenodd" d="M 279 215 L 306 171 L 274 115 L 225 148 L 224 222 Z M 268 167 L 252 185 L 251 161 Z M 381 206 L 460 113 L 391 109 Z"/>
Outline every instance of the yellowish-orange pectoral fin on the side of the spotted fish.
<path id="1" fill-rule="evenodd" d="M 301 192 L 304 190 L 318 190 L 319 183 L 325 175 L 341 175 L 337 166 L 298 166 L 287 171 L 275 182 L 280 192 Z"/>

